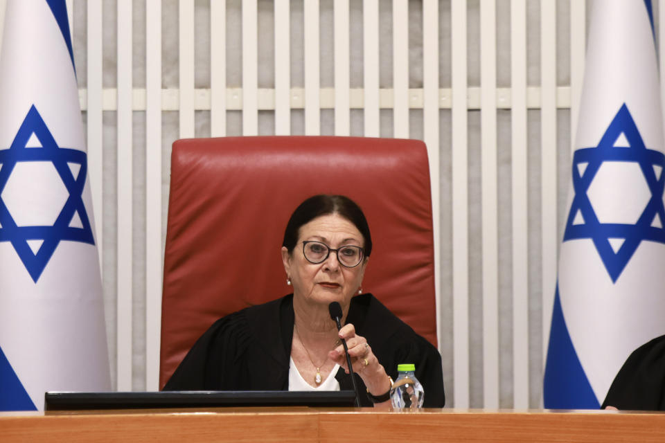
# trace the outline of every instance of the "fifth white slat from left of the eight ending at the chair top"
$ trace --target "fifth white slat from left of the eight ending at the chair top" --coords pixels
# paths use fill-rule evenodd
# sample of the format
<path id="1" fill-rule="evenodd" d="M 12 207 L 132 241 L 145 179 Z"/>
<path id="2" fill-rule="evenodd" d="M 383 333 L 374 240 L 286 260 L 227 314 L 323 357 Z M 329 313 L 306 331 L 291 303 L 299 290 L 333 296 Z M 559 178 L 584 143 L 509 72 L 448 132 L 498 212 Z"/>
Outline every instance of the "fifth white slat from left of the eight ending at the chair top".
<path id="1" fill-rule="evenodd" d="M 305 26 L 305 135 L 317 136 L 321 132 L 319 78 L 319 0 L 304 2 Z"/>

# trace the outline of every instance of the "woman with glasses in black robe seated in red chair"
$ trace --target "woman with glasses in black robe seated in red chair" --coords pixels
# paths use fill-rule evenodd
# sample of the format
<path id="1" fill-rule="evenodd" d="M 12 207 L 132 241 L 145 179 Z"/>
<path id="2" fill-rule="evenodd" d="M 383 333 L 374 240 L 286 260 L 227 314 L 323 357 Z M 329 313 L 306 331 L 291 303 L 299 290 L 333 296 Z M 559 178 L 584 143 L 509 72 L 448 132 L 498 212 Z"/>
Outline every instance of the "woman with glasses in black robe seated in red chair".
<path id="1" fill-rule="evenodd" d="M 297 247 L 296 247 L 297 246 Z M 195 343 L 165 390 L 351 390 L 387 406 L 397 365 L 414 363 L 425 407 L 443 407 L 438 350 L 361 284 L 372 243 L 360 207 L 317 195 L 292 214 L 281 250 L 293 293 L 220 318 Z M 342 306 L 342 329 L 328 305 Z M 353 374 L 348 374 L 344 338 Z"/>

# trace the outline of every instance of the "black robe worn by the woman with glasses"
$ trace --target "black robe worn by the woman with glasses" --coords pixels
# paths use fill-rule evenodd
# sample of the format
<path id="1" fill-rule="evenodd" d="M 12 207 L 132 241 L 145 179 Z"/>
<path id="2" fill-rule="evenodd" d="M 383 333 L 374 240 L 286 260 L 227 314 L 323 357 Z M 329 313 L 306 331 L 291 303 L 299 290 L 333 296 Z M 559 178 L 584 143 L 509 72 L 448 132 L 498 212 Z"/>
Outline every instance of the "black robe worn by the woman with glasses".
<path id="1" fill-rule="evenodd" d="M 393 379 L 398 364 L 414 363 L 425 389 L 423 406 L 443 407 L 441 355 L 436 347 L 370 293 L 351 299 L 346 322 L 367 339 Z M 164 390 L 288 390 L 293 323 L 293 294 L 220 318 L 198 339 Z M 362 379 L 354 377 L 360 404 L 371 406 Z M 351 376 L 342 368 L 335 378 L 340 389 L 353 390 Z"/>

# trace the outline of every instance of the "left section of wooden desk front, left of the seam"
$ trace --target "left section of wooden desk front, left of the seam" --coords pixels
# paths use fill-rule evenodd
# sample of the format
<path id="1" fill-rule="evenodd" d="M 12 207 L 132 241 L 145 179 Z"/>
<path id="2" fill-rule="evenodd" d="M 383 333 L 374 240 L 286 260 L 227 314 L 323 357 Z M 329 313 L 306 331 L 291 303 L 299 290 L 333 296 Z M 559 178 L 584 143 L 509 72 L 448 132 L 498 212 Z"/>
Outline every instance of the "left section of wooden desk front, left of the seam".
<path id="1" fill-rule="evenodd" d="M 315 442 L 317 413 L 142 411 L 0 416 L 0 442 Z M 305 408 L 306 409 L 306 408 Z"/>

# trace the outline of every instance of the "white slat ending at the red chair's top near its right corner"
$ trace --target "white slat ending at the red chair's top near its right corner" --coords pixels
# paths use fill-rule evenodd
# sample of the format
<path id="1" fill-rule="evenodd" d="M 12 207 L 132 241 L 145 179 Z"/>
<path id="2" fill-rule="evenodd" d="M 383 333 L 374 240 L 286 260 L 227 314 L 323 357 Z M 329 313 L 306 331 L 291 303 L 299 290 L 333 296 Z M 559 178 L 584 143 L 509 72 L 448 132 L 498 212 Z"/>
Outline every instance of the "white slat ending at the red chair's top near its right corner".
<path id="1" fill-rule="evenodd" d="M 409 138 L 409 3 L 393 0 L 393 136 Z"/>

